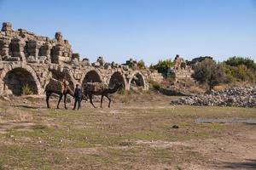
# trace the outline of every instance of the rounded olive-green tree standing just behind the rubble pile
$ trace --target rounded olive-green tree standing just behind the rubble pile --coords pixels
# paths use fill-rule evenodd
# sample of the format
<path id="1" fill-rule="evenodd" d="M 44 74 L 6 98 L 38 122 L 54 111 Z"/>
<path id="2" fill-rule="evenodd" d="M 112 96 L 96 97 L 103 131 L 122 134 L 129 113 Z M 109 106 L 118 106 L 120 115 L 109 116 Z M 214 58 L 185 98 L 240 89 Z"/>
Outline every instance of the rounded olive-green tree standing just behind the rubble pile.
<path id="1" fill-rule="evenodd" d="M 212 59 L 205 59 L 195 65 L 192 77 L 200 83 L 206 83 L 211 90 L 214 86 L 224 82 L 224 67 Z"/>

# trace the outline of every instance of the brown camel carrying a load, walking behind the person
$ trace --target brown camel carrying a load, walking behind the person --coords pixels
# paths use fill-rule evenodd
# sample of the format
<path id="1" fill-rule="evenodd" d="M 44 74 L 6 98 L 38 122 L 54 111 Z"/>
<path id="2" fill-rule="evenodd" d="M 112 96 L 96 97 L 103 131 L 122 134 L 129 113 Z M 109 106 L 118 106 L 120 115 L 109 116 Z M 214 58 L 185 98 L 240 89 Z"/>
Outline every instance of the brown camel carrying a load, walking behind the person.
<path id="1" fill-rule="evenodd" d="M 46 85 L 45 92 L 46 92 L 46 104 L 48 108 L 49 108 L 49 96 L 51 94 L 59 94 L 57 109 L 59 109 L 62 96 L 64 96 L 65 109 L 67 109 L 67 106 L 66 106 L 67 94 L 70 94 L 71 96 L 73 96 L 73 90 L 68 86 L 67 81 L 65 80 L 59 81 L 54 78 L 51 78 L 49 80 L 49 83 Z"/>

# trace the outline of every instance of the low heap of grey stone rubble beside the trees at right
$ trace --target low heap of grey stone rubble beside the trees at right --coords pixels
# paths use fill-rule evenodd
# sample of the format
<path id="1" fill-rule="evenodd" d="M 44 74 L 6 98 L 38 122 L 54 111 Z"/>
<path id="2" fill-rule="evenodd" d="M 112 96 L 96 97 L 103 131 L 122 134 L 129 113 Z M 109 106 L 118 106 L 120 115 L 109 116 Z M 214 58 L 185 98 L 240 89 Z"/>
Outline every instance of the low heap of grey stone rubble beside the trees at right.
<path id="1" fill-rule="evenodd" d="M 219 105 L 256 107 L 256 87 L 227 88 L 210 94 L 184 97 L 172 101 L 173 105 Z"/>

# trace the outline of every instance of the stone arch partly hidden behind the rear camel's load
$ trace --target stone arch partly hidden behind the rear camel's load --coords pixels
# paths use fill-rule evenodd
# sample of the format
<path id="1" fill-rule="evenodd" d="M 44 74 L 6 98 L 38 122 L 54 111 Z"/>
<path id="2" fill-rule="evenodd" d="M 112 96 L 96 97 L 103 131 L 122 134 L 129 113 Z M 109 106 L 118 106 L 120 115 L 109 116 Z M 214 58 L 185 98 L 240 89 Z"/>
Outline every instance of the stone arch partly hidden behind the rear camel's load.
<path id="1" fill-rule="evenodd" d="M 59 68 L 49 69 L 49 71 L 51 72 L 51 77 L 60 81 L 62 81 L 63 79 L 67 80 L 67 82 L 69 82 L 70 88 L 74 89 L 77 81 L 73 78 L 72 73 L 68 71 L 68 69 L 61 69 L 59 67 Z"/>

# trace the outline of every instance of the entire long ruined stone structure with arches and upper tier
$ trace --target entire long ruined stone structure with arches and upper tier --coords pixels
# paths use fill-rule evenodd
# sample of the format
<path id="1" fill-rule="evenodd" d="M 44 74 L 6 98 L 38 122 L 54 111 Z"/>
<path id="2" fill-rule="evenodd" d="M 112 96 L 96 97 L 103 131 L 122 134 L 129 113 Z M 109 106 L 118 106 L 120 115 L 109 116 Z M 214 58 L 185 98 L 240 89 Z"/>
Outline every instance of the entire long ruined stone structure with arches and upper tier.
<path id="1" fill-rule="evenodd" d="M 44 94 L 50 77 L 67 79 L 73 88 L 76 83 L 105 82 L 113 86 L 122 82 L 124 88 L 131 86 L 148 89 L 148 79 L 159 81 L 155 71 L 132 70 L 127 65 L 105 63 L 102 58 L 90 65 L 73 54 L 71 45 L 62 40 L 61 32 L 55 39 L 40 37 L 19 29 L 13 31 L 10 23 L 3 23 L 0 31 L 0 94 L 20 95 L 28 84 L 33 94 Z"/>

